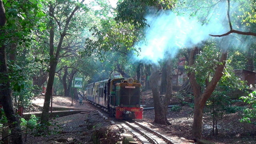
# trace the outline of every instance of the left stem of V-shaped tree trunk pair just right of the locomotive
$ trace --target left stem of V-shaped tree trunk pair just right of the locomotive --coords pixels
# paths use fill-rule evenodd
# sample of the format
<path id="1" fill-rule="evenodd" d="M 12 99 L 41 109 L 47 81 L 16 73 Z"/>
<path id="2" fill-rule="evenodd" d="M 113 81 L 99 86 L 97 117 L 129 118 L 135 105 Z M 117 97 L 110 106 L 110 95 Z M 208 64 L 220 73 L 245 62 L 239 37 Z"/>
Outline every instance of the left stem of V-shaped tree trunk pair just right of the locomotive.
<path id="1" fill-rule="evenodd" d="M 160 101 L 159 88 L 158 88 L 158 76 L 159 71 L 156 65 L 152 65 L 152 75 L 150 76 L 150 86 L 153 94 L 154 109 L 155 109 L 155 120 L 157 124 L 167 125 L 165 122 L 164 106 Z"/>

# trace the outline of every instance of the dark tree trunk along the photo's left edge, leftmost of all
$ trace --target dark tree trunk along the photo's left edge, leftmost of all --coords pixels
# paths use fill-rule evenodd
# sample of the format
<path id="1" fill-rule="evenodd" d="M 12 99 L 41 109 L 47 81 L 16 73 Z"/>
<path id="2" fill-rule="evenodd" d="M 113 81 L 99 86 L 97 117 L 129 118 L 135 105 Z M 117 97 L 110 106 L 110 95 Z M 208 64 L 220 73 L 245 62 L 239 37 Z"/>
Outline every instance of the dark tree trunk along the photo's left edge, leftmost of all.
<path id="1" fill-rule="evenodd" d="M 0 0 L 0 29 L 5 25 L 6 17 L 5 10 L 2 0 Z M 4 36 L 5 31 L 0 30 L 0 35 Z M 0 42 L 0 74 L 1 76 L 1 84 L 0 84 L 0 100 L 4 109 L 4 114 L 8 120 L 9 128 L 11 133 L 11 141 L 13 144 L 22 144 L 22 135 L 21 135 L 21 127 L 20 121 L 17 116 L 15 116 L 15 111 L 12 104 L 12 90 L 10 86 L 10 79 L 7 75 L 7 64 L 6 64 L 6 52 L 3 41 Z"/>

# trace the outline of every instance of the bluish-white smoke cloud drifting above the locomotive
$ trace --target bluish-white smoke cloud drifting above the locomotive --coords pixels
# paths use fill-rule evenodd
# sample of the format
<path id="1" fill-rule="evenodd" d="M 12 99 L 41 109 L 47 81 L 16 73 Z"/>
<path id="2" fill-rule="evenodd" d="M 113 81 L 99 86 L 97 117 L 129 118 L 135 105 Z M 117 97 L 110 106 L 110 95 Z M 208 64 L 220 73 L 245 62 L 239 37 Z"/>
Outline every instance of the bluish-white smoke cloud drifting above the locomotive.
<path id="1" fill-rule="evenodd" d="M 146 41 L 136 44 L 141 48 L 139 60 L 149 60 L 157 63 L 164 58 L 165 53 L 174 57 L 179 48 L 191 48 L 206 41 L 210 36 L 228 31 L 226 4 L 218 3 L 215 8 L 198 11 L 190 17 L 188 12 L 177 15 L 172 11 L 151 12 L 146 16 L 150 27 L 145 29 Z M 208 21 L 202 24 L 200 18 Z M 201 20 L 202 21 L 202 20 Z"/>

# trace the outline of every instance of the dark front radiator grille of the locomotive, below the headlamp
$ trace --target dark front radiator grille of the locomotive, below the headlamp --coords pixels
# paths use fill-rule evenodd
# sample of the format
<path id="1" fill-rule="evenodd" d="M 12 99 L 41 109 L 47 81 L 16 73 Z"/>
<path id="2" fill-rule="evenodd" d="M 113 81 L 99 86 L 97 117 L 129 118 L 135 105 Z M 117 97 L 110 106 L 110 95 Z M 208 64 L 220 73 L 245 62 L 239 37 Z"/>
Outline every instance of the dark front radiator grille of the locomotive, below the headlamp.
<path id="1" fill-rule="evenodd" d="M 120 103 L 124 105 L 136 105 L 140 104 L 140 87 L 125 88 L 125 85 L 120 89 Z"/>

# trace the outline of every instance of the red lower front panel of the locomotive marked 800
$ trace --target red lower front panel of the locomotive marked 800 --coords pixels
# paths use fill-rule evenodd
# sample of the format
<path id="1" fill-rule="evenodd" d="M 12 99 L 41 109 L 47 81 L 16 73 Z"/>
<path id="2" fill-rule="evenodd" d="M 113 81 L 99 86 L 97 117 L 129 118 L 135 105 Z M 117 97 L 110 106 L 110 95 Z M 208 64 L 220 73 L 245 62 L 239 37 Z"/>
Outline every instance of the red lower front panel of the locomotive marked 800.
<path id="1" fill-rule="evenodd" d="M 142 119 L 143 107 L 116 107 L 117 119 Z"/>

